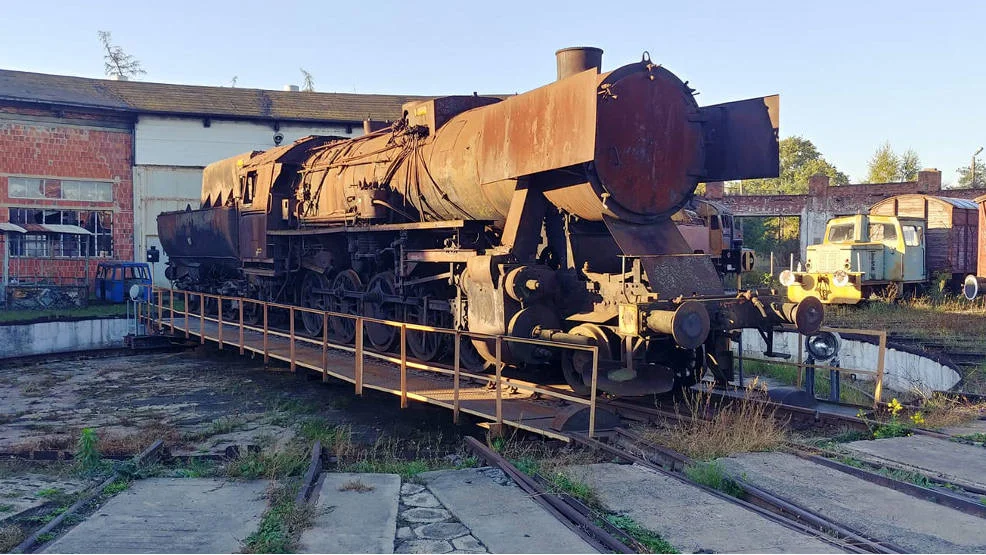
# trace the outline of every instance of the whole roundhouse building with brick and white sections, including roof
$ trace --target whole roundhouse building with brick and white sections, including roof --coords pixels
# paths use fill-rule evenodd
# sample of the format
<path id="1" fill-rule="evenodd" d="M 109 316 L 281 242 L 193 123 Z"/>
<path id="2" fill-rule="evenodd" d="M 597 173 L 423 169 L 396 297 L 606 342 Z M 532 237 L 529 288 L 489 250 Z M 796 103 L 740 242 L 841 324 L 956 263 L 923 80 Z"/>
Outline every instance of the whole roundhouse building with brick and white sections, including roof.
<path id="1" fill-rule="evenodd" d="M 100 260 L 143 260 L 160 245 L 160 212 L 198 206 L 205 165 L 306 135 L 357 136 L 364 119 L 394 120 L 420 98 L 0 70 L 0 223 L 27 230 L 0 234 L 10 276 L 72 283 Z"/>

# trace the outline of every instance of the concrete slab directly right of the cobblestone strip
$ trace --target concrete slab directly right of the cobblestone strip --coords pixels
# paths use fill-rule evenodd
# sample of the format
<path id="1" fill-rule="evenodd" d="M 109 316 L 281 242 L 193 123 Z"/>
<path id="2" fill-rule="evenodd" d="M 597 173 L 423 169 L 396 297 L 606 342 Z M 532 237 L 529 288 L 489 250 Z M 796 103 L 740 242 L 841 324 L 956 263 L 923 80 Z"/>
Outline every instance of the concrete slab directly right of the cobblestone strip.
<path id="1" fill-rule="evenodd" d="M 418 478 L 491 553 L 596 553 L 499 469 L 441 470 Z M 457 551 L 481 549 L 465 538 L 453 541 Z"/>

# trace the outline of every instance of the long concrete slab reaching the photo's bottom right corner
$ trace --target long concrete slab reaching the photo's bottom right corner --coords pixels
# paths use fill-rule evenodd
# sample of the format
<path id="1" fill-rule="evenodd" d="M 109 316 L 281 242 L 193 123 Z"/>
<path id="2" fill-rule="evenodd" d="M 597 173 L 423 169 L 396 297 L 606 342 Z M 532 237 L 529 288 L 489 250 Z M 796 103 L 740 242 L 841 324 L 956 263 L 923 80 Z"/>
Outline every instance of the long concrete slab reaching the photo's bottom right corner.
<path id="1" fill-rule="evenodd" d="M 722 459 L 738 478 L 913 553 L 982 553 L 986 522 L 786 453 Z"/>

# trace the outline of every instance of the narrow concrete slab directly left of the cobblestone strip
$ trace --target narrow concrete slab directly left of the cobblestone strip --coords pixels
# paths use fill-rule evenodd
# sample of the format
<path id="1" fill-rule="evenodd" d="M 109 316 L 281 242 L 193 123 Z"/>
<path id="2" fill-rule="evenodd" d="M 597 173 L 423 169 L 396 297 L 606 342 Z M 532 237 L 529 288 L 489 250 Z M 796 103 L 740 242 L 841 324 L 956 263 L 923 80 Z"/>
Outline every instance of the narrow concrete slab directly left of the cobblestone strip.
<path id="1" fill-rule="evenodd" d="M 299 553 L 394 552 L 400 476 L 323 473 L 316 491 L 317 515 Z"/>

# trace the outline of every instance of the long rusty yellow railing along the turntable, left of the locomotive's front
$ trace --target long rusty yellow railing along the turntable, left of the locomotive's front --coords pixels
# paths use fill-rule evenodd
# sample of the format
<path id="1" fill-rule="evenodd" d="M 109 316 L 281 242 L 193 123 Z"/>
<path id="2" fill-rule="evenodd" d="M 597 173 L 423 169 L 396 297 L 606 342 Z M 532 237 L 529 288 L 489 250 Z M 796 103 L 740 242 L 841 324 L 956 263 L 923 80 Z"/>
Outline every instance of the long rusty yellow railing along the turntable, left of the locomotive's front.
<path id="1" fill-rule="evenodd" d="M 182 302 L 181 309 L 176 309 L 176 307 L 175 307 L 175 294 L 176 293 L 180 293 L 183 296 L 182 297 L 182 301 L 183 302 Z M 165 299 L 165 296 L 167 296 L 167 299 Z M 192 313 L 191 311 L 189 311 L 189 306 L 190 306 L 189 300 L 190 299 L 198 299 L 198 311 L 196 313 Z M 211 315 L 207 315 L 206 314 L 205 307 L 206 307 L 206 301 L 207 300 L 214 300 L 216 302 L 216 315 L 215 315 L 214 318 Z M 167 303 L 168 303 L 167 306 L 165 306 L 165 301 L 167 301 Z M 237 318 L 236 318 L 236 320 L 230 321 L 230 320 L 226 319 L 223 316 L 223 306 L 226 303 L 229 303 L 230 306 L 234 307 L 234 309 L 236 310 L 236 312 L 237 312 Z M 247 303 L 257 305 L 259 307 L 259 310 L 262 311 L 261 325 L 259 325 L 259 326 L 258 325 L 249 325 L 249 324 L 244 323 L 244 320 L 243 320 L 244 310 L 242 310 L 242 307 L 245 306 L 245 304 L 247 304 Z M 383 319 L 379 319 L 379 318 L 371 318 L 369 316 L 359 316 L 359 315 L 345 314 L 345 313 L 339 313 L 339 312 L 330 312 L 330 311 L 318 310 L 318 309 L 314 309 L 314 308 L 307 308 L 307 307 L 301 307 L 301 306 L 287 305 L 287 304 L 274 303 L 274 302 L 266 302 L 266 301 L 260 301 L 260 300 L 256 300 L 256 299 L 248 299 L 248 298 L 243 298 L 243 297 L 227 297 L 227 296 L 223 296 L 223 295 L 214 295 L 214 294 L 210 294 L 210 293 L 199 293 L 199 292 L 185 291 L 185 290 L 176 291 L 174 289 L 165 289 L 165 288 L 162 288 L 162 287 L 154 287 L 152 289 L 152 303 L 151 303 L 151 305 L 154 308 L 157 309 L 157 322 L 156 322 L 157 325 L 158 326 L 170 326 L 172 333 L 177 333 L 177 331 L 178 331 L 175 328 L 175 317 L 176 316 L 181 316 L 183 318 L 183 320 L 184 320 L 183 332 L 184 332 L 186 338 L 189 338 L 192 335 L 192 333 L 193 333 L 189 329 L 189 321 L 191 319 L 193 319 L 193 318 L 197 318 L 198 321 L 199 321 L 199 328 L 198 328 L 199 329 L 199 333 L 198 333 L 198 335 L 199 335 L 199 341 L 202 344 L 204 344 L 205 341 L 206 341 L 206 339 L 207 339 L 206 338 L 206 333 L 205 333 L 205 322 L 213 322 L 213 323 L 217 324 L 217 337 L 216 338 L 209 338 L 209 339 L 215 339 L 215 341 L 217 342 L 220 350 L 223 349 L 223 345 L 227 341 L 227 339 L 224 337 L 224 328 L 227 325 L 236 326 L 236 329 L 238 331 L 238 337 L 237 337 L 237 340 L 235 342 L 235 345 L 237 345 L 239 347 L 240 354 L 244 354 L 244 352 L 245 352 L 245 350 L 247 348 L 246 341 L 245 341 L 245 332 L 246 331 L 252 331 L 252 332 L 256 332 L 256 333 L 262 334 L 262 338 L 263 338 L 262 353 L 263 353 L 263 356 L 264 356 L 264 363 L 265 364 L 267 362 L 269 362 L 270 357 L 271 357 L 271 353 L 270 353 L 270 337 L 271 336 L 275 336 L 275 337 L 285 338 L 285 339 L 288 340 L 288 360 L 287 360 L 287 362 L 288 362 L 289 367 L 290 367 L 290 370 L 292 372 L 295 371 L 296 366 L 298 364 L 298 361 L 297 361 L 297 351 L 296 351 L 296 345 L 297 345 L 297 343 L 298 342 L 302 342 L 304 344 L 310 344 L 310 345 L 318 346 L 318 347 L 321 348 L 321 360 L 320 360 L 319 368 L 317 368 L 315 370 L 321 372 L 321 374 L 322 374 L 322 381 L 328 381 L 329 376 L 332 376 L 332 377 L 335 377 L 335 378 L 338 378 L 338 379 L 342 379 L 342 380 L 345 380 L 345 381 L 352 382 L 355 385 L 355 393 L 357 395 L 362 395 L 363 394 L 363 386 L 364 386 L 363 364 L 364 364 L 365 357 L 371 357 L 371 358 L 374 358 L 374 359 L 377 359 L 377 360 L 380 360 L 380 361 L 383 361 L 383 362 L 389 362 L 389 363 L 397 364 L 399 366 L 399 368 L 400 368 L 400 389 L 398 391 L 395 391 L 394 393 L 397 393 L 397 394 L 400 395 L 401 408 L 406 408 L 407 407 L 408 395 L 410 394 L 410 395 L 418 398 L 419 400 L 426 401 L 426 402 L 429 402 L 429 403 L 432 403 L 432 404 L 436 404 L 436 405 L 439 405 L 439 406 L 444 406 L 446 408 L 452 409 L 453 420 L 456 423 L 459 422 L 459 413 L 461 411 L 461 398 L 460 398 L 461 397 L 461 395 L 460 395 L 460 381 L 461 381 L 461 378 L 462 377 L 466 377 L 466 378 L 478 379 L 478 380 L 488 380 L 490 378 L 490 376 L 489 375 L 486 375 L 486 374 L 474 374 L 474 373 L 462 371 L 462 369 L 461 369 L 461 350 L 460 350 L 461 349 L 461 342 L 463 341 L 463 338 L 470 338 L 470 339 L 475 338 L 475 339 L 491 340 L 491 341 L 494 342 L 494 346 L 495 346 L 495 357 L 496 357 L 496 360 L 495 360 L 495 378 L 494 378 L 494 382 L 493 382 L 494 387 L 495 387 L 495 395 L 496 395 L 496 397 L 495 397 L 495 414 L 493 415 L 493 418 L 495 419 L 495 422 L 496 422 L 496 424 L 497 424 L 498 427 L 502 427 L 503 424 L 508 424 L 508 425 L 511 425 L 511 426 L 515 426 L 515 427 L 523 428 L 523 429 L 528 429 L 528 430 L 532 430 L 532 431 L 536 431 L 536 432 L 543 432 L 544 430 L 534 429 L 534 428 L 531 428 L 530 426 L 527 426 L 527 425 L 523 424 L 522 422 L 515 422 L 515 421 L 506 420 L 503 417 L 503 384 L 504 384 L 504 381 L 503 381 L 503 368 L 506 365 L 506 363 L 503 361 L 503 343 L 504 342 L 507 342 L 507 343 L 526 343 L 526 344 L 531 344 L 531 345 L 540 345 L 540 346 L 545 346 L 545 347 L 552 347 L 552 348 L 556 348 L 556 349 L 557 348 L 561 348 L 561 349 L 572 349 L 572 350 L 576 350 L 576 351 L 590 352 L 590 353 L 592 353 L 592 380 L 591 380 L 591 384 L 590 384 L 591 387 L 590 387 L 590 396 L 589 396 L 589 399 L 585 399 L 585 398 L 578 397 L 578 396 L 575 396 L 575 395 L 569 395 L 569 394 L 566 394 L 566 393 L 562 393 L 562 392 L 559 392 L 559 391 L 557 391 L 555 389 L 539 387 L 538 385 L 531 385 L 531 384 L 527 384 L 527 383 L 523 383 L 523 382 L 510 382 L 510 387 L 511 388 L 515 388 L 517 390 L 521 390 L 521 391 L 526 391 L 526 392 L 529 392 L 529 393 L 533 393 L 533 394 L 540 394 L 540 395 L 543 395 L 543 396 L 547 396 L 547 397 L 552 397 L 552 398 L 555 398 L 555 399 L 560 399 L 560 400 L 568 401 L 570 403 L 575 403 L 575 404 L 580 404 L 580 405 L 587 406 L 588 409 L 589 409 L 589 429 L 588 429 L 589 437 L 594 437 L 595 436 L 595 425 L 596 425 L 596 385 L 598 383 L 598 378 L 599 378 L 599 376 L 598 376 L 598 374 L 599 374 L 599 347 L 598 346 L 595 346 L 595 345 L 576 345 L 576 344 L 571 344 L 571 343 L 559 343 L 559 342 L 545 341 L 545 340 L 541 340 L 541 339 L 528 339 L 528 338 L 522 338 L 522 337 L 512 337 L 512 336 L 508 336 L 508 335 L 489 335 L 489 334 L 483 334 L 483 333 L 477 333 L 477 332 L 470 332 L 470 331 L 464 331 L 464 330 L 454 330 L 454 329 L 440 328 L 440 327 L 435 327 L 435 326 L 427 326 L 427 325 L 423 325 L 423 324 L 414 324 L 414 323 L 409 323 L 409 322 L 399 322 L 399 321 L 395 321 L 395 320 L 383 320 Z M 139 305 L 138 305 L 138 308 L 139 308 Z M 284 331 L 281 331 L 281 330 L 277 330 L 277 329 L 272 329 L 270 327 L 269 313 L 270 313 L 270 309 L 272 309 L 272 308 L 287 311 L 287 313 L 288 313 L 288 326 L 289 326 L 287 332 L 284 332 Z M 169 318 L 168 323 L 165 323 L 164 322 L 164 313 L 165 313 L 165 310 L 167 310 L 168 311 L 168 314 L 170 314 L 170 318 Z M 299 334 L 296 333 L 296 331 L 295 331 L 295 316 L 299 312 L 306 312 L 306 313 L 310 313 L 310 314 L 321 315 L 321 317 L 322 317 L 322 337 L 321 338 L 313 338 L 313 337 L 308 337 L 308 336 L 304 336 L 304 335 L 299 335 Z M 146 318 L 146 320 L 148 321 L 148 323 L 154 323 L 153 320 L 152 320 L 152 318 L 150 317 L 150 308 L 148 309 L 148 314 L 147 315 L 140 315 L 138 317 L 144 317 L 144 318 Z M 331 340 L 331 338 L 329 337 L 329 333 L 328 333 L 329 318 L 344 318 L 344 319 L 352 320 L 354 322 L 355 334 L 356 334 L 356 336 L 355 336 L 355 344 L 354 345 L 350 345 L 348 343 L 334 342 L 334 341 Z M 367 323 L 379 324 L 379 325 L 385 325 L 385 326 L 391 326 L 391 327 L 398 328 L 400 330 L 400 352 L 399 352 L 399 356 L 395 357 L 395 356 L 392 356 L 392 355 L 389 355 L 389 354 L 386 354 L 386 353 L 380 353 L 380 352 L 376 352 L 376 351 L 372 351 L 372 350 L 368 350 L 368 349 L 365 349 L 364 348 L 364 346 L 363 346 L 363 331 L 364 331 L 364 327 L 365 327 L 365 325 Z M 449 369 L 449 368 L 445 368 L 445 367 L 442 367 L 442 366 L 436 366 L 436 365 L 432 365 L 432 364 L 423 363 L 423 362 L 420 362 L 420 361 L 408 360 L 408 357 L 407 357 L 407 332 L 408 332 L 408 330 L 415 331 L 415 332 L 423 332 L 423 333 L 439 333 L 439 334 L 444 334 L 444 335 L 451 335 L 452 336 L 452 340 L 453 340 L 453 344 L 454 344 L 453 365 L 452 365 L 452 368 Z M 353 378 L 352 379 L 350 379 L 348 376 L 345 376 L 343 374 L 339 374 L 339 373 L 336 373 L 336 372 L 331 372 L 329 370 L 329 362 L 328 362 L 328 350 L 329 350 L 329 348 L 340 350 L 340 351 L 345 351 L 345 352 L 349 352 L 349 353 L 353 353 L 353 355 L 355 357 L 355 366 L 354 366 L 354 373 L 353 373 L 354 375 L 353 375 Z M 418 395 L 418 394 L 416 394 L 414 392 L 409 392 L 408 391 L 408 387 L 407 387 L 407 370 L 408 370 L 408 368 L 412 368 L 414 370 L 421 370 L 421 371 L 433 372 L 433 373 L 442 374 L 442 375 L 446 375 L 446 376 L 452 376 L 452 384 L 453 384 L 452 385 L 452 404 L 449 405 L 448 403 L 439 401 L 437 399 L 426 398 L 426 397 L 424 397 L 422 395 Z M 470 411 L 470 412 L 473 412 L 473 413 L 478 414 L 480 416 L 489 417 L 489 415 L 485 415 L 485 414 L 481 414 L 481 413 L 476 413 L 476 411 Z M 559 437 L 561 437 L 561 436 L 559 436 Z"/>

